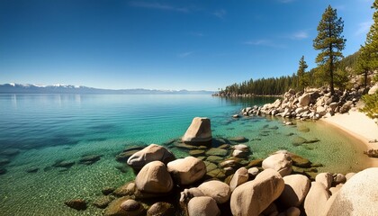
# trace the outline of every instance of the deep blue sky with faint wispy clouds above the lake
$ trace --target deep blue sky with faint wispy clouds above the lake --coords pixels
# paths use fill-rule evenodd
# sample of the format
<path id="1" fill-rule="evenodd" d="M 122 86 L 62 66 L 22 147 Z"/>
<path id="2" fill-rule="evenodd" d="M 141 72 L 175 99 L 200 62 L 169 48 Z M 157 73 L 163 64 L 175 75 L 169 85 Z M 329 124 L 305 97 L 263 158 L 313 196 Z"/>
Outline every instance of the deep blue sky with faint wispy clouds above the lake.
<path id="1" fill-rule="evenodd" d="M 345 56 L 365 41 L 373 0 L 0 0 L 0 83 L 218 90 L 292 75 L 326 7 Z"/>

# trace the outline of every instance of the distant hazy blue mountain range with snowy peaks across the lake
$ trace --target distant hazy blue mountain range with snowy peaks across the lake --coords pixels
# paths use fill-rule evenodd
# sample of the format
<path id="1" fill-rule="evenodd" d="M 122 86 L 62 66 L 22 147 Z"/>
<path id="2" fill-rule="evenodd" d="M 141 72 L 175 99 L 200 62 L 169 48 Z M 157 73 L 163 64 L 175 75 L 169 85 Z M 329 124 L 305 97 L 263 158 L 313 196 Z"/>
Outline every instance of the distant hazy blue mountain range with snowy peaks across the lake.
<path id="1" fill-rule="evenodd" d="M 155 90 L 155 89 L 101 89 L 77 85 L 31 85 L 31 84 L 4 84 L 0 85 L 0 94 L 214 94 L 211 91 L 188 90 Z"/>

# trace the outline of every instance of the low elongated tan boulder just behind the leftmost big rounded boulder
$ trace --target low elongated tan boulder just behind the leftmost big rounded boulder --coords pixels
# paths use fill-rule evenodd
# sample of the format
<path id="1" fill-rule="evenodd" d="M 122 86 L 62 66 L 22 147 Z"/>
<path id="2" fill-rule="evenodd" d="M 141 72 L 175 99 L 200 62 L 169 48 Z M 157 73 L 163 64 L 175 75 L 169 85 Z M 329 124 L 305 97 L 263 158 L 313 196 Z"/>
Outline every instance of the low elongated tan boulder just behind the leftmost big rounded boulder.
<path id="1" fill-rule="evenodd" d="M 168 149 L 157 144 L 151 144 L 129 157 L 127 164 L 134 169 L 140 169 L 151 161 L 157 160 L 167 164 L 174 159 L 174 154 Z"/>

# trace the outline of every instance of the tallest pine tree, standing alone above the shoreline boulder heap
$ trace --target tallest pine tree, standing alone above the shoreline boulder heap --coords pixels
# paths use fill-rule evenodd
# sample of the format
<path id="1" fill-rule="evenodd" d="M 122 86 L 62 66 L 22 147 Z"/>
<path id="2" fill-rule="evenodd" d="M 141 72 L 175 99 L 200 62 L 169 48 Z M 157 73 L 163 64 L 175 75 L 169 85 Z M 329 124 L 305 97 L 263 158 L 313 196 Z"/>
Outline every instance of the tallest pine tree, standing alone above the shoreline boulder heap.
<path id="1" fill-rule="evenodd" d="M 316 58 L 320 66 L 324 66 L 329 73 L 329 85 L 331 94 L 335 93 L 333 86 L 334 71 L 336 63 L 343 58 L 341 50 L 345 48 L 346 40 L 341 35 L 344 29 L 344 22 L 338 18 L 336 9 L 329 7 L 321 17 L 318 25 L 318 36 L 313 40 L 314 49 L 321 50 Z"/>

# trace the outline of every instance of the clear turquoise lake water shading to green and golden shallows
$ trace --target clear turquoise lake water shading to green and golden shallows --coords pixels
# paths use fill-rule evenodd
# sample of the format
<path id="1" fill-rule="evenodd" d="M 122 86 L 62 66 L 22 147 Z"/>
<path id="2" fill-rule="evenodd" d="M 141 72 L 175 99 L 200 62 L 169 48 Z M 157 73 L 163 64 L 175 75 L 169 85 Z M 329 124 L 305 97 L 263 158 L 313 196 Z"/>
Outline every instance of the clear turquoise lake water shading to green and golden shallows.
<path id="1" fill-rule="evenodd" d="M 210 95 L 0 94 L 0 215 L 102 215 L 89 205 L 76 211 L 64 202 L 93 202 L 106 186 L 118 187 L 134 178 L 115 156 L 131 145 L 165 143 L 181 137 L 193 117 L 211 118 L 213 136 L 245 136 L 253 158 L 287 149 L 321 171 L 347 173 L 365 165 L 355 139 L 323 122 L 299 121 L 310 132 L 283 126 L 283 119 L 232 119 L 242 107 L 273 102 L 272 97 L 226 99 Z M 293 133 L 293 136 L 288 134 Z M 295 136 L 320 139 L 293 146 Z M 11 154 L 9 152 L 12 152 Z M 187 153 L 172 148 L 178 157 Z M 83 155 L 100 155 L 87 166 Z M 70 168 L 54 167 L 73 161 Z M 120 166 L 124 166 L 123 172 Z M 35 172 L 28 173 L 27 170 Z"/>

